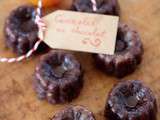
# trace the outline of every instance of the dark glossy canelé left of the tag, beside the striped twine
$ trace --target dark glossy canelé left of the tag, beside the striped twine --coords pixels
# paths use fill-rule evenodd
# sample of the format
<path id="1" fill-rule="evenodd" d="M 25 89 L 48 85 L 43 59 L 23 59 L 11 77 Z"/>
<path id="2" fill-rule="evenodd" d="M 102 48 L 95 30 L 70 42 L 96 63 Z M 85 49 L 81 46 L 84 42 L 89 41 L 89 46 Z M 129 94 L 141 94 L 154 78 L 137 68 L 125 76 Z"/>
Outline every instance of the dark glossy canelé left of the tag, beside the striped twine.
<path id="1" fill-rule="evenodd" d="M 4 26 L 5 42 L 16 54 L 26 54 L 38 40 L 36 11 L 33 6 L 23 5 L 11 12 Z M 41 49 L 47 48 L 44 43 Z"/>

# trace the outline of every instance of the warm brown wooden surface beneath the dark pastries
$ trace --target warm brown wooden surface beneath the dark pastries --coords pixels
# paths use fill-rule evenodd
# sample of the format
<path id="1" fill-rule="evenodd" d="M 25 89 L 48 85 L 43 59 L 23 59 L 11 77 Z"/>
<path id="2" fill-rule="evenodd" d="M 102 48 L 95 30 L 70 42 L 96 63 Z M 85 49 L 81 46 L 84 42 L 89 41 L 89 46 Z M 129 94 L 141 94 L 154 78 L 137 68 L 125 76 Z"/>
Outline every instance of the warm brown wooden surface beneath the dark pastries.
<path id="1" fill-rule="evenodd" d="M 160 108 L 160 0 L 119 2 L 121 21 L 139 31 L 145 51 L 137 71 L 124 79 L 143 80 L 155 93 Z M 1 56 L 14 56 L 4 46 L 3 25 L 9 11 L 23 3 L 24 0 L 0 0 Z M 107 94 L 118 81 L 96 70 L 90 54 L 75 54 L 85 69 L 85 84 L 80 96 L 70 104 L 87 106 L 97 120 L 103 120 Z M 32 75 L 39 57 L 34 56 L 17 64 L 0 64 L 0 120 L 49 120 L 56 111 L 68 105 L 50 105 L 37 99 L 32 89 Z"/>

